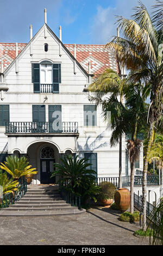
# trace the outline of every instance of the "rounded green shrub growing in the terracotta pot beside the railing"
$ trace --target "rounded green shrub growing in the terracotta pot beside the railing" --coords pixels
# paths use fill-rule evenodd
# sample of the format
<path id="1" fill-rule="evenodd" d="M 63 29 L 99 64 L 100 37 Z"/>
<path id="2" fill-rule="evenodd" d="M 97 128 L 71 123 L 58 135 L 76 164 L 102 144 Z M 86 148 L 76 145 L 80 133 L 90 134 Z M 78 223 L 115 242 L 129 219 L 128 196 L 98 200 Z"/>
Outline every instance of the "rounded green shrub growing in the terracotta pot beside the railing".
<path id="1" fill-rule="evenodd" d="M 101 186 L 101 199 L 113 199 L 117 188 L 114 184 L 108 181 L 102 181 L 99 186 Z"/>

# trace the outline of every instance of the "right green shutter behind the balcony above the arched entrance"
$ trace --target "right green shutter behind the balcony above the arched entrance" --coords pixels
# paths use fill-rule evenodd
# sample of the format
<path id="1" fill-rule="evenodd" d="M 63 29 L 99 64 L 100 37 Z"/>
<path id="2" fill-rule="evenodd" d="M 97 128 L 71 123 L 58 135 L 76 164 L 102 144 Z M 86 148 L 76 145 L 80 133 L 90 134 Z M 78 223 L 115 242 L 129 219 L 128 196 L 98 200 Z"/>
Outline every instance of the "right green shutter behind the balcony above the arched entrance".
<path id="1" fill-rule="evenodd" d="M 61 132 L 62 130 L 61 105 L 48 105 L 48 114 L 49 114 L 49 131 Z"/>

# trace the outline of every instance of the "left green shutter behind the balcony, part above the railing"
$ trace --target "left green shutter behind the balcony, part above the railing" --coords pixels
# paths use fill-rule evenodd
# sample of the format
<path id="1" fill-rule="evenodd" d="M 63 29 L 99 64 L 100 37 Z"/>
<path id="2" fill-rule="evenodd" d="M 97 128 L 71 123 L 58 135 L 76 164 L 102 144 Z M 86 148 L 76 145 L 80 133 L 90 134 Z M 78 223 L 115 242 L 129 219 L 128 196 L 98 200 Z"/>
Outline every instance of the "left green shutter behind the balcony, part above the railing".
<path id="1" fill-rule="evenodd" d="M 33 122 L 45 122 L 45 105 L 32 105 Z"/>

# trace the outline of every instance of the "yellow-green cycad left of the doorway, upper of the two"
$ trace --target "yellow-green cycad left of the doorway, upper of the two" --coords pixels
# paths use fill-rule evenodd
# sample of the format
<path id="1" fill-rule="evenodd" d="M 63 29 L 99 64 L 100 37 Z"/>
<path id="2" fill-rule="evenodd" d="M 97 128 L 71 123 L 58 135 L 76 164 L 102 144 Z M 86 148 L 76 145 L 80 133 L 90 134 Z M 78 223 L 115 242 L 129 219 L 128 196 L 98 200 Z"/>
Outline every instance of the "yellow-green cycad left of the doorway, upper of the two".
<path id="1" fill-rule="evenodd" d="M 15 155 L 11 155 L 6 157 L 6 161 L 1 163 L 0 168 L 9 173 L 13 179 L 17 180 L 22 176 L 27 174 L 36 174 L 34 171 L 36 168 L 31 168 L 32 166 L 28 165 L 29 162 L 26 157 L 17 157 Z"/>

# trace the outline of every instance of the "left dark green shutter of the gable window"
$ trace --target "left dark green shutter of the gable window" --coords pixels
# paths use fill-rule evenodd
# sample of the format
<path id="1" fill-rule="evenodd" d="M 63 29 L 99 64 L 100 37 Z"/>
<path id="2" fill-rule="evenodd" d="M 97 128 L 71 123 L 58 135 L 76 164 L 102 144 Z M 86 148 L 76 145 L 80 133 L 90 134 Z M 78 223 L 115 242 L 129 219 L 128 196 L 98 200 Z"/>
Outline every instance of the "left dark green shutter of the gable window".
<path id="1" fill-rule="evenodd" d="M 40 64 L 32 63 L 32 82 L 34 93 L 40 93 Z"/>

